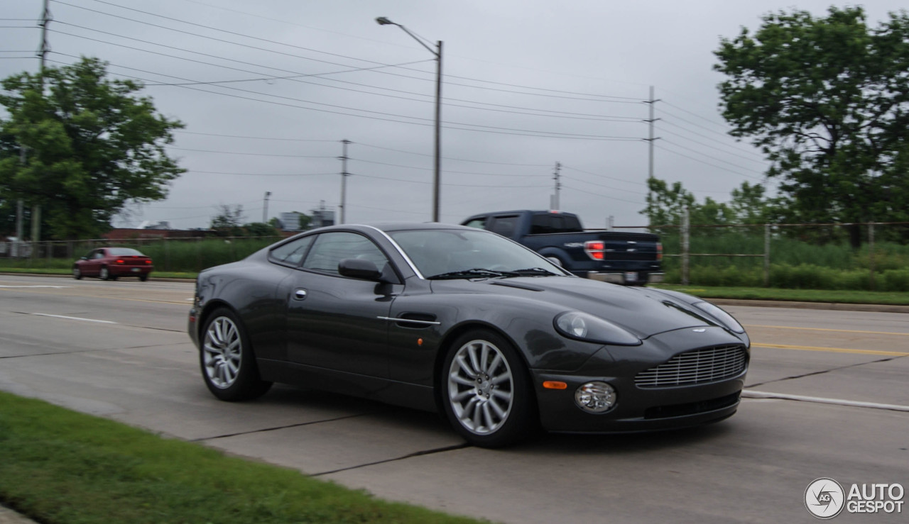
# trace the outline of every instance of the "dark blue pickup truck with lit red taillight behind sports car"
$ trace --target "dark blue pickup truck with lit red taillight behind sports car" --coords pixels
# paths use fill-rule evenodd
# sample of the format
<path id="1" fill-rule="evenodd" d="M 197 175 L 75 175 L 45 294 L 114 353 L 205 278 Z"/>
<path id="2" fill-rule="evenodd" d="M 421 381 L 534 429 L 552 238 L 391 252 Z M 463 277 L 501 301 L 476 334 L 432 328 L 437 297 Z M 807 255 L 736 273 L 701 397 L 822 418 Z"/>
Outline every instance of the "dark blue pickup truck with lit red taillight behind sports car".
<path id="1" fill-rule="evenodd" d="M 573 213 L 475 214 L 462 225 L 497 232 L 582 277 L 626 285 L 662 282 L 663 245 L 645 232 L 588 231 Z"/>

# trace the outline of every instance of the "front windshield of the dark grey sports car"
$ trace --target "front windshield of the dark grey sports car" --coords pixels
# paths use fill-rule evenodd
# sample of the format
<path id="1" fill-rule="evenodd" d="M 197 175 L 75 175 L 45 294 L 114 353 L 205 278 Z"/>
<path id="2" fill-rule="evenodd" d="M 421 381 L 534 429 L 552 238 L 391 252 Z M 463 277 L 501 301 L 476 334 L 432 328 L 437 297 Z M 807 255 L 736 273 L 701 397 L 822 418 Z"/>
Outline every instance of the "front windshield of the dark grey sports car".
<path id="1" fill-rule="evenodd" d="M 389 232 L 426 278 L 564 276 L 542 256 L 485 231 Z"/>

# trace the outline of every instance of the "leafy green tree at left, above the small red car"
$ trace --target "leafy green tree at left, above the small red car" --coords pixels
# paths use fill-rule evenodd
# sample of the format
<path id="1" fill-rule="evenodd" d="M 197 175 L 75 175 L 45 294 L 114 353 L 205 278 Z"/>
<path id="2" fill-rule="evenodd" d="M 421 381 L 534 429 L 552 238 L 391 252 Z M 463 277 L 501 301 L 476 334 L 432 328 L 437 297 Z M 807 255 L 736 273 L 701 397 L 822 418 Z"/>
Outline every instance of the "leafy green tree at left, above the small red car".
<path id="1" fill-rule="evenodd" d="M 42 205 L 52 238 L 95 237 L 125 204 L 164 199 L 185 172 L 165 153 L 183 124 L 156 114 L 150 98 L 136 95 L 140 84 L 108 79 L 95 58 L 2 84 L 9 116 L 0 133 L 15 136 L 26 155 L 25 164 L 0 158 L 0 190 Z"/>

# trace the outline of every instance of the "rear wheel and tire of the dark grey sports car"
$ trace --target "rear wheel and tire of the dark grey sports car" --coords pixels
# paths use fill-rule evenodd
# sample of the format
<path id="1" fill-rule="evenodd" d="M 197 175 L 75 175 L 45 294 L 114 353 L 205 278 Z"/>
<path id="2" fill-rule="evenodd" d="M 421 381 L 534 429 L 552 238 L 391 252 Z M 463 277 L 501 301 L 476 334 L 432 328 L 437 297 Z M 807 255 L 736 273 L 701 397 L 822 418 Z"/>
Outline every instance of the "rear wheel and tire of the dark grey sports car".
<path id="1" fill-rule="evenodd" d="M 199 363 L 208 391 L 220 400 L 251 400 L 272 387 L 259 377 L 243 324 L 227 308 L 213 311 L 205 322 Z"/>

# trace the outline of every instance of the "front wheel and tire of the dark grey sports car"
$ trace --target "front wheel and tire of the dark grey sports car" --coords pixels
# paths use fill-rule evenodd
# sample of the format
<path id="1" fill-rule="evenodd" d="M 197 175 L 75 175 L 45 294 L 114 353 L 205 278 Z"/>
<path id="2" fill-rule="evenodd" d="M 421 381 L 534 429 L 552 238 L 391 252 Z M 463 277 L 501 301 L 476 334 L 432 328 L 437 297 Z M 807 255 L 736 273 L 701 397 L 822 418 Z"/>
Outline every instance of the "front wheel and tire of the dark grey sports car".
<path id="1" fill-rule="evenodd" d="M 535 433 L 534 393 L 524 360 L 494 331 L 468 331 L 452 343 L 440 386 L 445 416 L 474 446 L 499 448 Z"/>

